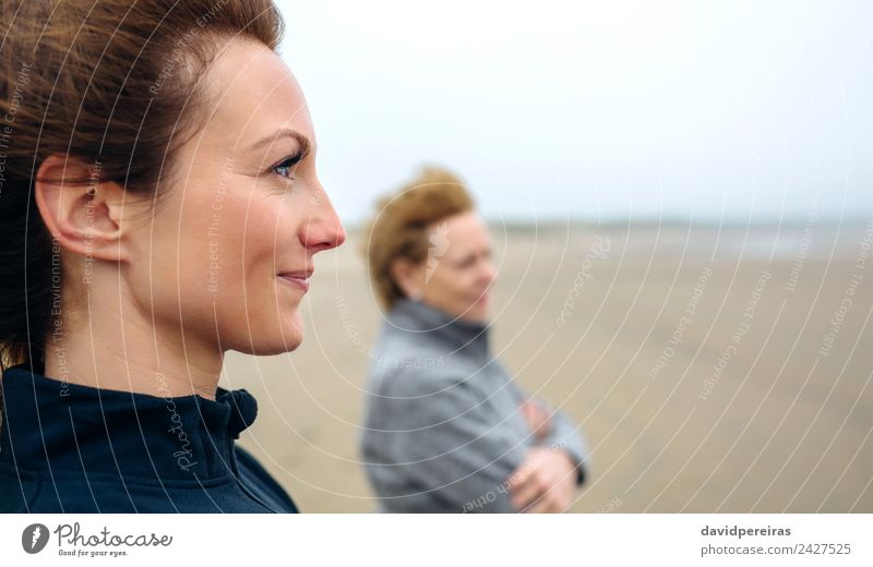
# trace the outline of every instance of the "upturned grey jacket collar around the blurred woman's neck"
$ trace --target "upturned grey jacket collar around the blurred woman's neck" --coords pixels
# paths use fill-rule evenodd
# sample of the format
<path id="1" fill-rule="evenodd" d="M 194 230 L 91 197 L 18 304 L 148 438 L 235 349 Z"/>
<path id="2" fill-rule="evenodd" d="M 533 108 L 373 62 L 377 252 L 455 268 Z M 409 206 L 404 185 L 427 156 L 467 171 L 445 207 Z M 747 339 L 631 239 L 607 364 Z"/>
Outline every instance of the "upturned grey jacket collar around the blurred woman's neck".
<path id="1" fill-rule="evenodd" d="M 450 353 L 490 357 L 488 323 L 462 319 L 422 301 L 397 300 L 388 313 L 387 324 L 399 331 L 420 335 L 422 340 L 438 339 L 450 349 Z"/>

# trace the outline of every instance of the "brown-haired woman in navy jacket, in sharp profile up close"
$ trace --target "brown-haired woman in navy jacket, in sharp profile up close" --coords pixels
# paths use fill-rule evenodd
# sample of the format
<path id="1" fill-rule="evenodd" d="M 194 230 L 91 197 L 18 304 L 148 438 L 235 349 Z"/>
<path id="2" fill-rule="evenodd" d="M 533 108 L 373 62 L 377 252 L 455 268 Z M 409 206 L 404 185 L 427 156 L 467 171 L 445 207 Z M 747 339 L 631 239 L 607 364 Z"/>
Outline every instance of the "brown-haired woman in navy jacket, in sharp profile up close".
<path id="1" fill-rule="evenodd" d="M 297 511 L 224 353 L 345 232 L 268 0 L 17 1 L 0 44 L 0 510 Z"/>

